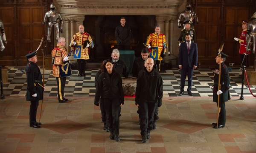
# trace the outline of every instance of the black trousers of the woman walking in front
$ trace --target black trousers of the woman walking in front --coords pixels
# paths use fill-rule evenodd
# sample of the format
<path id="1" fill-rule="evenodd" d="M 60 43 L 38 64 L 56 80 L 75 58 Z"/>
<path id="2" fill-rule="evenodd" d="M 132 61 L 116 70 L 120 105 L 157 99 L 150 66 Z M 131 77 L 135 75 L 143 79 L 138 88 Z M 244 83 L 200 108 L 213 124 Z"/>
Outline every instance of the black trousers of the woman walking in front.
<path id="1" fill-rule="evenodd" d="M 120 98 L 102 98 L 102 103 L 106 111 L 107 124 L 109 125 L 110 132 L 119 134 Z"/>

